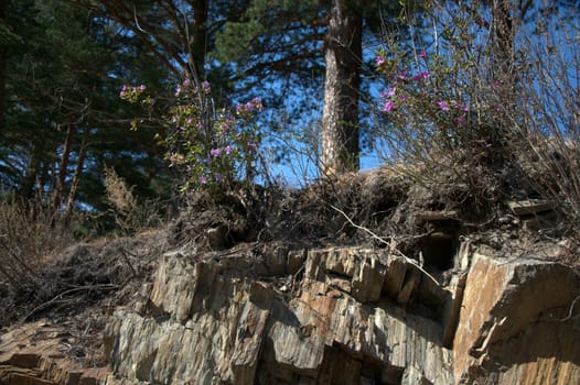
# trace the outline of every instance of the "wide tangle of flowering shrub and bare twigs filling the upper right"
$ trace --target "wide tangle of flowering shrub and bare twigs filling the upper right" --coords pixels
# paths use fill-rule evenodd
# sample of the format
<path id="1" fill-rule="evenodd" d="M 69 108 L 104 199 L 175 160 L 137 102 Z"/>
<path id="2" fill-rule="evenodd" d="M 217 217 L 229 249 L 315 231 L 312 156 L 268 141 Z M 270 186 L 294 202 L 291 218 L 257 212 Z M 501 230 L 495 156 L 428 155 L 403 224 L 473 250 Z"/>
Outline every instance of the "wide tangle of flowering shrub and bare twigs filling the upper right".
<path id="1" fill-rule="evenodd" d="M 495 3 L 430 4 L 406 19 L 410 46 L 387 36 L 376 56 L 387 162 L 431 186 L 452 175 L 470 199 L 539 196 L 579 218 L 577 10 L 511 9 L 506 32 Z"/>

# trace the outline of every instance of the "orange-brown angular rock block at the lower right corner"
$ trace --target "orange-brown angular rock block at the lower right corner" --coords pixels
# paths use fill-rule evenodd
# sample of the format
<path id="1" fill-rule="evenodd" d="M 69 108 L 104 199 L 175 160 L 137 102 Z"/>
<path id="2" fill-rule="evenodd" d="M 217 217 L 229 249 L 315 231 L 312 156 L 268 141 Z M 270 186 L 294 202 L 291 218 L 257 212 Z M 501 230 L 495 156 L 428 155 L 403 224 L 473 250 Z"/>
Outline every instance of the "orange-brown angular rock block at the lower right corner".
<path id="1" fill-rule="evenodd" d="M 580 383 L 579 277 L 534 258 L 475 253 L 453 343 L 462 383 Z"/>

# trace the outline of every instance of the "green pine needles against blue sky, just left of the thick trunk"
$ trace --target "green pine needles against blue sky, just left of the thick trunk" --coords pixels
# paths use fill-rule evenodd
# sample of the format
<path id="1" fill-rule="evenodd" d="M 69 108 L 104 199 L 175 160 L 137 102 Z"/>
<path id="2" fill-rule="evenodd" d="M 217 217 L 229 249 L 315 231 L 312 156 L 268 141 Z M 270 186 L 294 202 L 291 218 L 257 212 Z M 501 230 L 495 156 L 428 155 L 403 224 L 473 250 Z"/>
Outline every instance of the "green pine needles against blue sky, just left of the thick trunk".
<path id="1" fill-rule="evenodd" d="M 223 66 L 234 63 L 233 78 L 241 80 L 239 86 L 256 89 L 273 79 L 282 85 L 321 75 L 325 7 L 283 0 L 251 0 L 245 6 L 216 32 L 211 53 Z"/>

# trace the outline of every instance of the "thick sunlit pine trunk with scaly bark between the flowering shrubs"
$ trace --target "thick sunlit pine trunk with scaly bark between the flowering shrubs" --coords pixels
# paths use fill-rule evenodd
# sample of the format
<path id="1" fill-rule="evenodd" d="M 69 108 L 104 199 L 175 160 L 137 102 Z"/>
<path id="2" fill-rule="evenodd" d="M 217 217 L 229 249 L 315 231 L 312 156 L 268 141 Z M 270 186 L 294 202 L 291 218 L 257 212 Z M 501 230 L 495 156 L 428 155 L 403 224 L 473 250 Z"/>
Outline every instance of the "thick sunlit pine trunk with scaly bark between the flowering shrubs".
<path id="1" fill-rule="evenodd" d="M 321 158 L 323 175 L 358 169 L 362 20 L 352 1 L 333 0 L 325 53 Z"/>

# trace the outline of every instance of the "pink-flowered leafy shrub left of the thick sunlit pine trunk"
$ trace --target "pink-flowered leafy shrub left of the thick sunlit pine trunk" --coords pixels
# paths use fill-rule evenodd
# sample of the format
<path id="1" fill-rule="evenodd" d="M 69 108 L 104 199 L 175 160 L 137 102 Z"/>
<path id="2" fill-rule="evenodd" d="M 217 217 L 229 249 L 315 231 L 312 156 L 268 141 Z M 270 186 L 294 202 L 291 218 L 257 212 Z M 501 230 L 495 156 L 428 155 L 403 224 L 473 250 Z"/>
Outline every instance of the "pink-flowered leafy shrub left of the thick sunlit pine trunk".
<path id="1" fill-rule="evenodd" d="M 142 101 L 144 86 L 123 86 L 120 97 Z M 171 167 L 184 175 L 182 189 L 208 189 L 213 193 L 233 187 L 236 180 L 251 180 L 260 135 L 256 113 L 264 109 L 255 98 L 235 109 L 216 110 L 211 99 L 212 87 L 198 87 L 185 79 L 175 88 L 175 105 L 165 118 L 167 133 L 161 139 Z M 147 100 L 147 98 L 146 98 Z"/>

